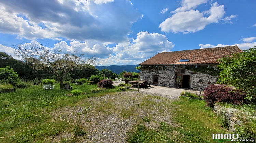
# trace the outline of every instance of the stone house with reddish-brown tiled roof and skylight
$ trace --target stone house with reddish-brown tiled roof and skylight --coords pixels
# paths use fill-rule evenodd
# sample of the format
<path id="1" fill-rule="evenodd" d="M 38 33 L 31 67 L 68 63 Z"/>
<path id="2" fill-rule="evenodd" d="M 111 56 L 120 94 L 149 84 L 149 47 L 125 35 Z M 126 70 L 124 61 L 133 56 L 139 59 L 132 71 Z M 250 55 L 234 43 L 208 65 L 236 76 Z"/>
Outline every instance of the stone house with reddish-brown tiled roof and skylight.
<path id="1" fill-rule="evenodd" d="M 140 79 L 153 85 L 202 90 L 219 78 L 219 58 L 243 52 L 238 46 L 158 53 L 140 63 Z"/>

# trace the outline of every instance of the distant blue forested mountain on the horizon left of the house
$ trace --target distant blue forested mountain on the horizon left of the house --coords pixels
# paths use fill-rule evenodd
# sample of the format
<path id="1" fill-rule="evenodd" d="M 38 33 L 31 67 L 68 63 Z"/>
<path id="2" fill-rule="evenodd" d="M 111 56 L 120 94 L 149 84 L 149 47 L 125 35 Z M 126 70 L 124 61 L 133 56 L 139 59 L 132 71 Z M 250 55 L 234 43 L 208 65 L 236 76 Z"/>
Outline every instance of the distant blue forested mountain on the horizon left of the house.
<path id="1" fill-rule="evenodd" d="M 126 66 L 95 66 L 95 68 L 102 70 L 102 69 L 108 69 L 111 70 L 113 73 L 117 73 L 118 75 L 123 72 L 124 70 L 127 72 L 140 72 L 140 70 L 135 69 L 136 66 L 139 65 L 126 65 Z"/>

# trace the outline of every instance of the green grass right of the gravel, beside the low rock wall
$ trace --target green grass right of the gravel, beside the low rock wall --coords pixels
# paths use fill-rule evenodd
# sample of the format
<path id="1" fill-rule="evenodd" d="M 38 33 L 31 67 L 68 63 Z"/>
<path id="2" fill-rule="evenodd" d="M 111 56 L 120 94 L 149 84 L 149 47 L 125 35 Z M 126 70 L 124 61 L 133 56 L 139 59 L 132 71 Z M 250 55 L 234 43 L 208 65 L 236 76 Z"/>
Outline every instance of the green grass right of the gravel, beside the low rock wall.
<path id="1" fill-rule="evenodd" d="M 202 100 L 181 97 L 173 102 L 172 120 L 179 127 L 173 127 L 165 122 L 159 122 L 158 128 L 151 129 L 143 124 L 135 126 L 135 130 L 127 132 L 129 143 L 211 143 L 212 134 L 226 133 L 227 130 L 219 125 L 219 118 Z M 144 119 L 143 119 L 144 120 Z"/>

